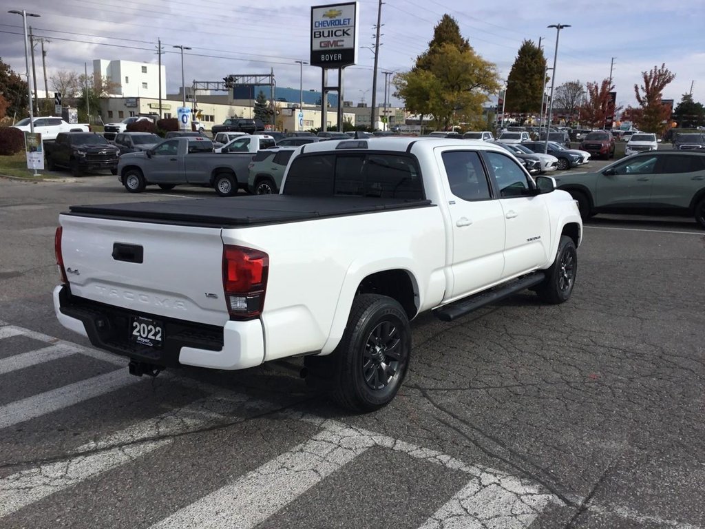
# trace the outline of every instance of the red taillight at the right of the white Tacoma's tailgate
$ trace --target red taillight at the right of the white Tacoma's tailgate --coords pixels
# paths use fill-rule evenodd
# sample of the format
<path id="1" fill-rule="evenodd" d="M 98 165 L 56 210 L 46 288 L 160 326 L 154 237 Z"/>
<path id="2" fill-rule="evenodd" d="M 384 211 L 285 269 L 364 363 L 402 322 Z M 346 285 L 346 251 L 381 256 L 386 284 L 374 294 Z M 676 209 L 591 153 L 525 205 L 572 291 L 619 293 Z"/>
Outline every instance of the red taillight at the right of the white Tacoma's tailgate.
<path id="1" fill-rule="evenodd" d="M 262 314 L 269 255 L 242 246 L 223 246 L 223 290 L 233 320 Z"/>

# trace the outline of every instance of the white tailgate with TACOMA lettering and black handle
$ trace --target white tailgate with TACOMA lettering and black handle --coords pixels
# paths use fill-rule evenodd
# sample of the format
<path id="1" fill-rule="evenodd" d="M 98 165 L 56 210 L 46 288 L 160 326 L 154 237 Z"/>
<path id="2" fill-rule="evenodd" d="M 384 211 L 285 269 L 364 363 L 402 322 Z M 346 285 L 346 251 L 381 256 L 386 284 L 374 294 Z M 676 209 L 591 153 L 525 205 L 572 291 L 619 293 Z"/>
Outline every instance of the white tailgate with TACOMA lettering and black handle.
<path id="1" fill-rule="evenodd" d="M 75 296 L 223 326 L 221 229 L 62 214 L 61 247 Z"/>

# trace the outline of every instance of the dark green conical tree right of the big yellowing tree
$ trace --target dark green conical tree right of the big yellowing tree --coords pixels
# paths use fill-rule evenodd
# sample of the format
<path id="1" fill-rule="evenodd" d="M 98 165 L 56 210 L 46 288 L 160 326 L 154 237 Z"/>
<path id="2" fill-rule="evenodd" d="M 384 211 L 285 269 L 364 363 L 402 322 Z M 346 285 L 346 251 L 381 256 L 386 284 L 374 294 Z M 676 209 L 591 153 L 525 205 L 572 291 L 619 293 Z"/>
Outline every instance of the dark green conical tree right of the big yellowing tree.
<path id="1" fill-rule="evenodd" d="M 546 58 L 532 40 L 525 40 L 507 77 L 505 111 L 531 114 L 541 110 Z"/>

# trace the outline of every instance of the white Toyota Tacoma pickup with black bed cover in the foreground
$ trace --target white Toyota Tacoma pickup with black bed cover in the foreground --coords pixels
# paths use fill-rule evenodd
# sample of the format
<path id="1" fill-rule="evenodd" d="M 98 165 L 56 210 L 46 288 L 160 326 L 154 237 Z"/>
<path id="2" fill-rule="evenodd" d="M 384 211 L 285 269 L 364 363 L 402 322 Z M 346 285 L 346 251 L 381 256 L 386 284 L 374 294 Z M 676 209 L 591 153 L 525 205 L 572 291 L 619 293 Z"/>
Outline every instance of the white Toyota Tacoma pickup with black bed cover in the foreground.
<path id="1" fill-rule="evenodd" d="M 71 207 L 56 316 L 135 375 L 303 356 L 372 411 L 404 379 L 419 312 L 453 320 L 526 288 L 568 300 L 582 222 L 555 186 L 489 143 L 304 145 L 279 195 Z"/>

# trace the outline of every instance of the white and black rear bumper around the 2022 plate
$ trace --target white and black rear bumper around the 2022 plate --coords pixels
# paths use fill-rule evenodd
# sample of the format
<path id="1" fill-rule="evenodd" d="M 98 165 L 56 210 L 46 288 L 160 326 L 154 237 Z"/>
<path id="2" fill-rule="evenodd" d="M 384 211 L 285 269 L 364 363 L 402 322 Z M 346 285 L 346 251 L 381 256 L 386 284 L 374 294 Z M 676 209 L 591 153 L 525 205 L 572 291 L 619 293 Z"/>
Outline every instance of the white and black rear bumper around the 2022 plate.
<path id="1" fill-rule="evenodd" d="M 238 370 L 264 361 L 261 320 L 228 321 L 216 327 L 164 318 L 72 296 L 66 285 L 54 288 L 54 312 L 63 327 L 87 336 L 93 346 L 142 363 Z M 130 343 L 130 317 L 135 315 L 164 323 L 161 348 Z"/>

